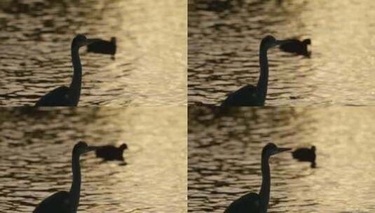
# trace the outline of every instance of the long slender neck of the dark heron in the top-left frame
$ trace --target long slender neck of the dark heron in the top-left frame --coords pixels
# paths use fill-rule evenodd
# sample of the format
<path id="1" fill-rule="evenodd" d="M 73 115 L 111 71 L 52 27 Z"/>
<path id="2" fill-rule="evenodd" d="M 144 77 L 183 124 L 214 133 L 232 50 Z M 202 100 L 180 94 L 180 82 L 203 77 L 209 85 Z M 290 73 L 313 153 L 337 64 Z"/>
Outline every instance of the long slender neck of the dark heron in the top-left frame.
<path id="1" fill-rule="evenodd" d="M 82 83 L 82 65 L 79 59 L 78 47 L 71 46 L 71 63 L 73 64 L 74 73 L 69 88 L 69 99 L 74 106 L 77 106 L 81 95 Z"/>

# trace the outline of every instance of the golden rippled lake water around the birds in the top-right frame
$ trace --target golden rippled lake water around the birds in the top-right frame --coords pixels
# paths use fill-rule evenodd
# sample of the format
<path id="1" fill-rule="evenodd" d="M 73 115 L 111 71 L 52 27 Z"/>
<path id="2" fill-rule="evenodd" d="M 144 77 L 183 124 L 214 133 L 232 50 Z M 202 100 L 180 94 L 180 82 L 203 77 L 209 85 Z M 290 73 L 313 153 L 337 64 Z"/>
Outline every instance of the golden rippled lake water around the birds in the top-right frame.
<path id="1" fill-rule="evenodd" d="M 311 38 L 311 58 L 268 51 L 266 105 L 374 105 L 375 1 L 189 0 L 189 104 L 257 83 L 259 43 Z"/>

